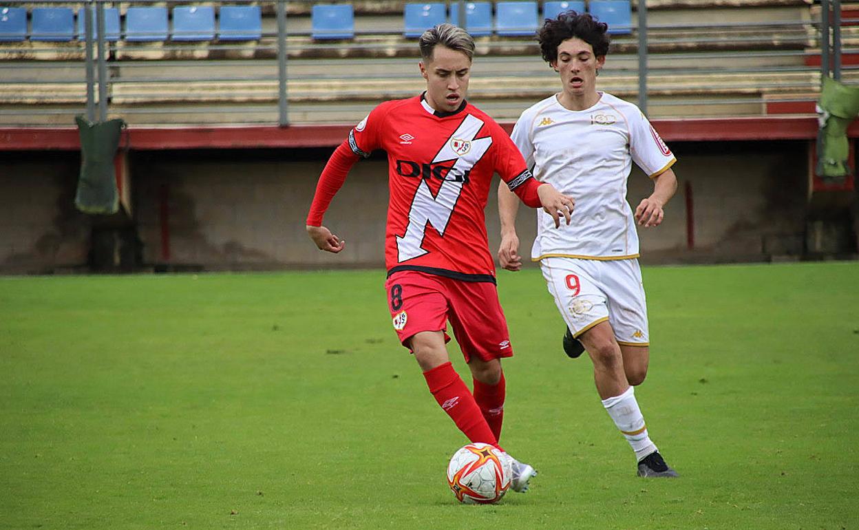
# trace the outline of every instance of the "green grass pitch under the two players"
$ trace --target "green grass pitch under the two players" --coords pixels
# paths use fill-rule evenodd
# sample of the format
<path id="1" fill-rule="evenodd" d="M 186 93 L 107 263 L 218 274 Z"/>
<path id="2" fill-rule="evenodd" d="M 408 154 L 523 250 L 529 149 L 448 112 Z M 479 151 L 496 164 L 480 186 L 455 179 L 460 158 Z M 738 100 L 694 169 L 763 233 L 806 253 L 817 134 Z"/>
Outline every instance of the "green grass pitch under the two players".
<path id="1" fill-rule="evenodd" d="M 500 272 L 502 443 L 539 477 L 495 506 L 448 490 L 466 440 L 383 281 L 0 278 L 0 528 L 859 526 L 859 264 L 645 268 L 636 393 L 677 480 L 635 476 L 539 271 Z"/>

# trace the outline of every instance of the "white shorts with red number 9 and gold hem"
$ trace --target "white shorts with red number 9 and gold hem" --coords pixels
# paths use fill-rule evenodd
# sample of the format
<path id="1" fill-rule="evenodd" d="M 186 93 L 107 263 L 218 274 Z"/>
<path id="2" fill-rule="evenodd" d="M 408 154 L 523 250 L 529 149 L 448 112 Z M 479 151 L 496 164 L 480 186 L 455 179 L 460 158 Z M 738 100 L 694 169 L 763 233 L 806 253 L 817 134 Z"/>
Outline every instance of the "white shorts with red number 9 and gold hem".
<path id="1" fill-rule="evenodd" d="M 649 344 L 647 301 L 637 259 L 544 258 L 540 268 L 573 337 L 608 320 L 618 344 Z"/>

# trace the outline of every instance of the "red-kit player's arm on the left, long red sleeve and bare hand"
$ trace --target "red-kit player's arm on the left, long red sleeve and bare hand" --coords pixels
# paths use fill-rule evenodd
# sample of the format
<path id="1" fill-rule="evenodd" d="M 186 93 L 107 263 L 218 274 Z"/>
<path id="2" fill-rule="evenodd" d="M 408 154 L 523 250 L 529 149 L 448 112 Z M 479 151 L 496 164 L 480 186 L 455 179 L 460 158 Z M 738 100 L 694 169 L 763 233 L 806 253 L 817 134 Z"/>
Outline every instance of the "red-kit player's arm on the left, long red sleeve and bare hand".
<path id="1" fill-rule="evenodd" d="M 349 170 L 355 165 L 355 162 L 361 157 L 368 157 L 370 152 L 378 147 L 377 127 L 375 125 L 381 121 L 380 113 L 377 112 L 379 108 L 376 107 L 367 118 L 349 131 L 349 138 L 334 150 L 325 169 L 320 174 L 319 182 L 316 183 L 314 202 L 310 204 L 305 228 L 310 239 L 320 250 L 336 254 L 344 248 L 345 241 L 322 225 L 322 217 L 325 216 L 334 195 L 343 186 L 346 175 L 349 174 Z M 370 123 L 373 123 L 374 126 L 369 127 Z"/>

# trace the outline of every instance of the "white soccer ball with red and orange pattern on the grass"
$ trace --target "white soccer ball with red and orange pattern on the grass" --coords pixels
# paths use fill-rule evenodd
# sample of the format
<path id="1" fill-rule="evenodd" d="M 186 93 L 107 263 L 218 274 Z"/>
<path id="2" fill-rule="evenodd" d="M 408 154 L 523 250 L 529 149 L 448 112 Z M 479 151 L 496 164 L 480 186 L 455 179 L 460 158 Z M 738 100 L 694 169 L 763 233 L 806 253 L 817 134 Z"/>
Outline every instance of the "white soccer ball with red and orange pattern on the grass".
<path id="1" fill-rule="evenodd" d="M 460 503 L 497 503 L 507 493 L 511 477 L 507 455 L 488 443 L 469 443 L 448 464 L 448 485 Z"/>

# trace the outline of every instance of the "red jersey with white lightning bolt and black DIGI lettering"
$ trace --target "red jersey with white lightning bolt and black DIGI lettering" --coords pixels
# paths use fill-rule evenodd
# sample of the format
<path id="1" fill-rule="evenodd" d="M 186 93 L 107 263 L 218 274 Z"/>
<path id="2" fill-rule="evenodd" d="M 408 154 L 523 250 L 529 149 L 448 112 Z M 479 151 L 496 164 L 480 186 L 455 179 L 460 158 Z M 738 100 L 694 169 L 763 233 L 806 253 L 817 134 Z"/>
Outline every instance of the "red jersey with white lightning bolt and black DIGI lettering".
<path id="1" fill-rule="evenodd" d="M 500 174 L 529 206 L 539 206 L 539 182 L 519 149 L 466 102 L 454 113 L 439 113 L 423 96 L 386 101 L 350 131 L 349 147 L 364 157 L 387 151 L 388 276 L 411 270 L 494 283 L 484 217 L 492 175 Z M 308 224 L 319 225 L 327 207 L 319 196 L 318 189 Z"/>

